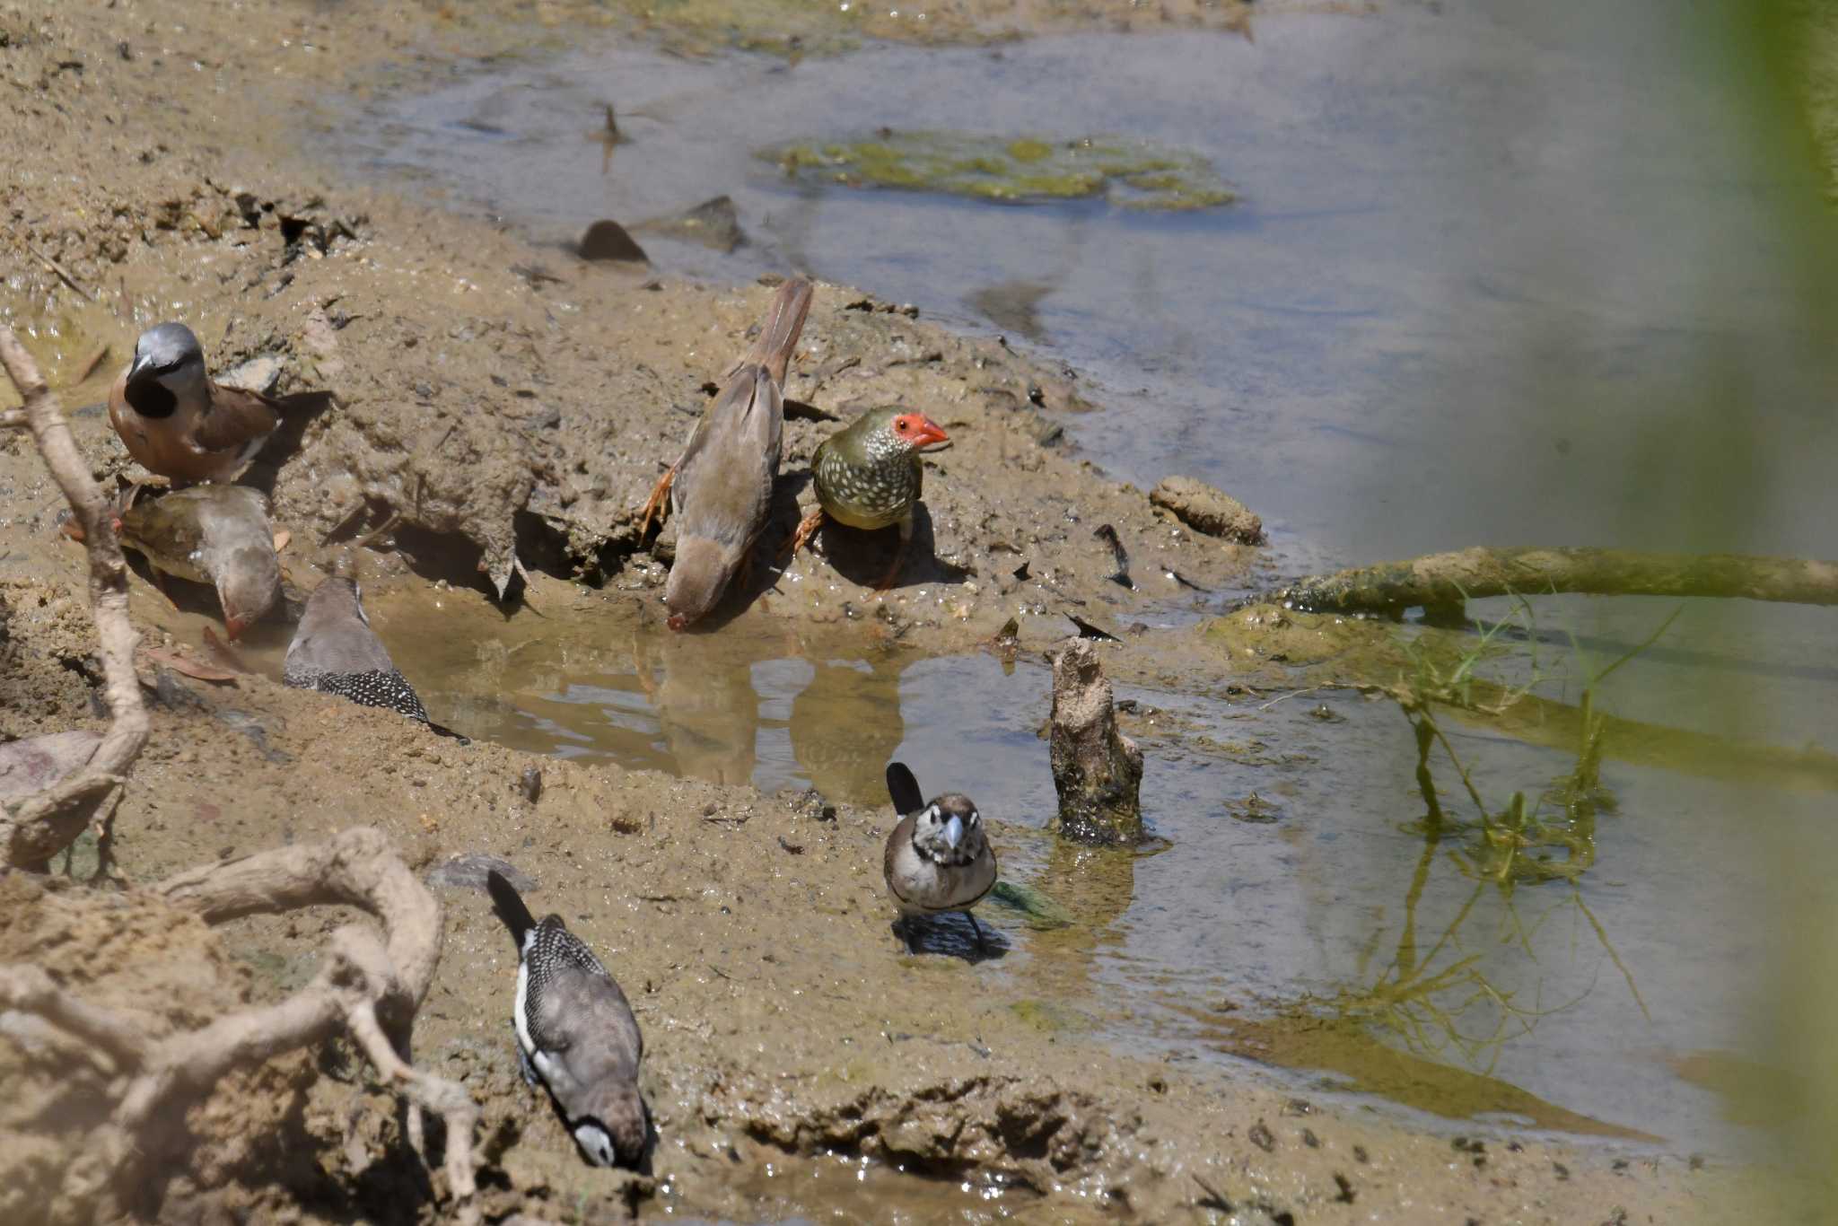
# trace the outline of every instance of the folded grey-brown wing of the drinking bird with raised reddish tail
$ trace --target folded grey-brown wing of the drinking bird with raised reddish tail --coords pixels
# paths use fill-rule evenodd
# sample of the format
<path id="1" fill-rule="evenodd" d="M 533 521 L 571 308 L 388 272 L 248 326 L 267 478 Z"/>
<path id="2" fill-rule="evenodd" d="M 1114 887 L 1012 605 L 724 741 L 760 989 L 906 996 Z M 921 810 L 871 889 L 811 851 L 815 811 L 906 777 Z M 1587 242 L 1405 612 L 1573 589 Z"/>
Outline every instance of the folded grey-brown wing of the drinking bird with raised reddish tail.
<path id="1" fill-rule="evenodd" d="M 744 366 L 728 380 L 676 461 L 671 505 L 678 537 L 744 544 L 766 522 L 779 472 L 785 426 L 779 388 L 765 366 Z"/>

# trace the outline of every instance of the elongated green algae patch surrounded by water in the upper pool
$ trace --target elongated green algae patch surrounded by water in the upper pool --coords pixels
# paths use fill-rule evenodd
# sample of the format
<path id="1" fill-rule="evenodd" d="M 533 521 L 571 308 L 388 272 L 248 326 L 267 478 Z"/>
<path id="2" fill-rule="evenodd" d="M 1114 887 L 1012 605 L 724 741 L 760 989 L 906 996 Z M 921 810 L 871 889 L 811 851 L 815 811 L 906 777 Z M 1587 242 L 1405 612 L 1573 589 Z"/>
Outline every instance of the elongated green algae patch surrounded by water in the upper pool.
<path id="1" fill-rule="evenodd" d="M 1237 199 L 1200 154 L 1121 136 L 1042 140 L 884 129 L 873 140 L 792 142 L 759 156 L 805 182 L 941 191 L 1004 204 L 1103 197 L 1121 208 L 1186 211 Z"/>

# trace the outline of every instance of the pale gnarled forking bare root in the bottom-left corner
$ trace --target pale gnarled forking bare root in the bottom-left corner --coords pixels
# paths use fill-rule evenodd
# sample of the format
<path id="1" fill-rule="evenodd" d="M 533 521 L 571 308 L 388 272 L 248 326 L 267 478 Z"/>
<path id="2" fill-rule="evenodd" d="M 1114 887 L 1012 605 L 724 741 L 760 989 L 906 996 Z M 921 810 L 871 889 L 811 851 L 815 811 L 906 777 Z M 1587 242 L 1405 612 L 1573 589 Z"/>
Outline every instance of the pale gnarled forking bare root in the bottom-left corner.
<path id="1" fill-rule="evenodd" d="M 445 1119 L 452 1217 L 478 1222 L 478 1108 L 458 1083 L 410 1064 L 415 1009 L 439 963 L 441 910 L 388 840 L 373 829 L 344 831 L 318 846 L 187 869 L 154 886 L 154 893 L 199 912 L 206 923 L 342 902 L 375 915 L 382 937 L 369 925 L 346 925 L 333 934 L 320 972 L 290 998 L 165 1039 L 149 1039 L 138 1018 L 85 1004 L 37 967 L 0 967 L 0 1005 L 77 1035 L 92 1059 L 108 1059 L 125 1075 L 112 1118 L 90 1154 L 70 1169 L 64 1195 L 75 1204 L 97 1204 L 99 1220 L 129 1211 L 154 1169 L 173 1158 L 173 1141 L 186 1134 L 186 1110 L 221 1077 L 323 1042 L 342 1027 L 410 1101 L 412 1125 L 419 1125 L 421 1108 Z M 412 1132 L 419 1134 L 419 1127 Z"/>

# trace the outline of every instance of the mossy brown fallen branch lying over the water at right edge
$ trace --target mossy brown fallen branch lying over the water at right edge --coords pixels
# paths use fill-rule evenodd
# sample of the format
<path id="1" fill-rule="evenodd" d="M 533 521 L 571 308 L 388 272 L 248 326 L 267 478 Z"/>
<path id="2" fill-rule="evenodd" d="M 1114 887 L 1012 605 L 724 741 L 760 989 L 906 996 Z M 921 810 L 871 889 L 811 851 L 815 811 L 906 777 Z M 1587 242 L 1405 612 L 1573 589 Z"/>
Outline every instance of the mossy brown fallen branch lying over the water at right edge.
<path id="1" fill-rule="evenodd" d="M 1489 550 L 1430 553 L 1299 579 L 1274 599 L 1310 612 L 1399 616 L 1423 607 L 1459 616 L 1487 596 L 1711 596 L 1794 605 L 1838 605 L 1838 562 L 1742 553 L 1638 553 L 1632 550 Z"/>

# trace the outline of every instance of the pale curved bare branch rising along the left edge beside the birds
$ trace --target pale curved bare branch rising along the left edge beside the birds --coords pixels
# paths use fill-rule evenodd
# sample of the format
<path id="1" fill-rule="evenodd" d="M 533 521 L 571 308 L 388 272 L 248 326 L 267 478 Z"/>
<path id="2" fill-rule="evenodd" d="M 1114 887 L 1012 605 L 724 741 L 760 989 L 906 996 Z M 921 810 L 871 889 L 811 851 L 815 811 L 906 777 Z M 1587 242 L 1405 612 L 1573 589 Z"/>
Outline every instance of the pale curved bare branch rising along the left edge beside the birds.
<path id="1" fill-rule="evenodd" d="M 0 811 L 0 864 L 44 868 L 83 833 L 103 798 L 123 785 L 123 776 L 147 744 L 147 709 L 134 678 L 140 634 L 127 619 L 127 562 L 103 491 L 70 436 L 57 397 L 9 327 L 0 327 L 0 366 L 26 401 L 24 412 L 9 410 L 0 417 L 0 428 L 26 425 L 31 430 L 44 467 L 83 528 L 83 548 L 90 559 L 90 616 L 96 618 L 112 717 L 108 733 L 83 770 Z"/>

